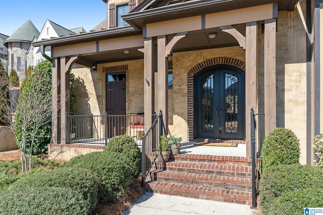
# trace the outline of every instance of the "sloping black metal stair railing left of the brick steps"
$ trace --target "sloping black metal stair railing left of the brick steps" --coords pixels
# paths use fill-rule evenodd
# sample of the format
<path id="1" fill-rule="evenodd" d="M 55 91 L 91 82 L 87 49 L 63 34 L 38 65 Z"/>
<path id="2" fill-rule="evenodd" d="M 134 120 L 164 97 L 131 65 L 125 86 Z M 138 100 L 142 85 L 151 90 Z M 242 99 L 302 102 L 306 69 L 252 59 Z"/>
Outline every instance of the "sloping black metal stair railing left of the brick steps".
<path id="1" fill-rule="evenodd" d="M 145 179 L 157 158 L 157 147 L 160 142 L 160 136 L 166 135 L 166 129 L 163 121 L 163 113 L 159 114 L 153 121 L 150 128 L 142 136 L 142 157 L 141 157 L 141 185 L 144 187 Z"/>

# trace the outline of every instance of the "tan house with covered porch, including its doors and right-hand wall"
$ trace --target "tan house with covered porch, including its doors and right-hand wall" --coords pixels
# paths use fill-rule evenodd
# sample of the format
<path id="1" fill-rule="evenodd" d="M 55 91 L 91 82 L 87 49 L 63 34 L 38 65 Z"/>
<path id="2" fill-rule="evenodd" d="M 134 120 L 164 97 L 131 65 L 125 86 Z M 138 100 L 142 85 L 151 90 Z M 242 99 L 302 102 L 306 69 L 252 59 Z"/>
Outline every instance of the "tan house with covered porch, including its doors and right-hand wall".
<path id="1" fill-rule="evenodd" d="M 66 97 L 65 83 L 76 63 L 87 68 L 75 71 L 82 84 L 78 115 L 144 112 L 147 131 L 152 114 L 162 110 L 167 130 L 183 140 L 245 143 L 250 157 L 252 108 L 264 114 L 257 117 L 258 139 L 275 127 L 290 128 L 300 139 L 301 163 L 313 164 L 312 137 L 323 132 L 323 3 L 105 3 L 107 20 L 94 28 L 97 31 L 33 42 L 51 47 L 52 82 L 61 83 L 60 91 L 52 94 L 49 153 L 73 148 L 66 145 L 66 118 L 59 118 L 69 112 L 69 101 L 60 107 L 57 101 Z"/>

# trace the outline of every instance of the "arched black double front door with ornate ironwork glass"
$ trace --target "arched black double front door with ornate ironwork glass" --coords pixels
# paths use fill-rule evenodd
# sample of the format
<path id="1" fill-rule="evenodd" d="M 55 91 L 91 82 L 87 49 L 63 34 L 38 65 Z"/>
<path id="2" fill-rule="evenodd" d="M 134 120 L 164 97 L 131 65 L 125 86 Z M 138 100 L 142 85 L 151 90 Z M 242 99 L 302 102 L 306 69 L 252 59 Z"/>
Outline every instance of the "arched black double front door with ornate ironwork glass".
<path id="1" fill-rule="evenodd" d="M 243 139 L 245 81 L 242 71 L 209 67 L 194 79 L 196 138 Z"/>

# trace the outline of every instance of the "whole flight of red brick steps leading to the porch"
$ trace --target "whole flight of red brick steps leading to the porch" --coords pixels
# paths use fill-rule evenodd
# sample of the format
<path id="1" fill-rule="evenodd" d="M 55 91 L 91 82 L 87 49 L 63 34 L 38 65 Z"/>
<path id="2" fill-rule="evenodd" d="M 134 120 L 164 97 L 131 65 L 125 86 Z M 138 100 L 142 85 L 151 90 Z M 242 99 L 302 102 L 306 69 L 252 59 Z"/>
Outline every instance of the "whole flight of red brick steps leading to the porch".
<path id="1" fill-rule="evenodd" d="M 251 205 L 251 159 L 187 154 L 171 159 L 155 162 L 147 191 Z"/>

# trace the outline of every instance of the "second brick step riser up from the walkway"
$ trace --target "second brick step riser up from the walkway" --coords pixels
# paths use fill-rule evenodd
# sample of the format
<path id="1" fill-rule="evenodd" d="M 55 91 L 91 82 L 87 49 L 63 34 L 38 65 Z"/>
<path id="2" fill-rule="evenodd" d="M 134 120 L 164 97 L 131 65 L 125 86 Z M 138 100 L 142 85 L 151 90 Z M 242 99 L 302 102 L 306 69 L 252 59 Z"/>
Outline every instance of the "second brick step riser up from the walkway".
<path id="1" fill-rule="evenodd" d="M 228 190 L 240 190 L 240 191 L 251 191 L 252 185 L 248 184 L 236 184 L 236 183 L 227 183 L 227 182 L 217 182 L 217 181 L 205 181 L 197 179 L 183 179 L 183 178 L 169 178 L 163 176 L 157 176 L 155 179 L 159 182 L 174 182 L 185 185 L 196 185 L 202 187 L 220 187 Z"/>

